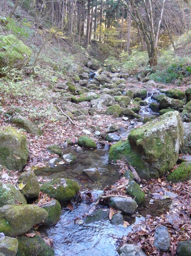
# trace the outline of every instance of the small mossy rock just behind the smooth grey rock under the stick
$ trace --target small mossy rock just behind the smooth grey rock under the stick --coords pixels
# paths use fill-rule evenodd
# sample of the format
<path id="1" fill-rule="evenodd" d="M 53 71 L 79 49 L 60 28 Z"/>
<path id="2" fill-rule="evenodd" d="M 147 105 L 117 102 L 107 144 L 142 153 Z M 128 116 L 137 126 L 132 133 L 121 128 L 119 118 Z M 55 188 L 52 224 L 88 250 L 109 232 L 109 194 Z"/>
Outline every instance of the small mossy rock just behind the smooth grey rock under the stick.
<path id="1" fill-rule="evenodd" d="M 129 180 L 129 183 L 127 185 L 126 192 L 132 197 L 135 198 L 135 202 L 137 205 L 140 205 L 145 200 L 145 193 L 141 190 L 141 187 L 139 184 L 135 182 L 135 180 L 131 179 Z"/>

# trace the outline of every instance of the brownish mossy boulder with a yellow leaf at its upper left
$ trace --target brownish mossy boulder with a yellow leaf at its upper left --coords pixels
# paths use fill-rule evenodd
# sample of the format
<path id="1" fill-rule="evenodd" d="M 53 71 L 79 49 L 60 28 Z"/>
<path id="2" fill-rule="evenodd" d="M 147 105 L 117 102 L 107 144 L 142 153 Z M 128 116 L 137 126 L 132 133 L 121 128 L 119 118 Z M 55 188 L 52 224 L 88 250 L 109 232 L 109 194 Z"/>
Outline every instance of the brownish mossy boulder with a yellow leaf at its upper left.
<path id="1" fill-rule="evenodd" d="M 26 199 L 39 196 L 40 185 L 33 171 L 26 171 L 19 177 L 18 183 L 23 183 L 24 187 L 20 190 Z"/>

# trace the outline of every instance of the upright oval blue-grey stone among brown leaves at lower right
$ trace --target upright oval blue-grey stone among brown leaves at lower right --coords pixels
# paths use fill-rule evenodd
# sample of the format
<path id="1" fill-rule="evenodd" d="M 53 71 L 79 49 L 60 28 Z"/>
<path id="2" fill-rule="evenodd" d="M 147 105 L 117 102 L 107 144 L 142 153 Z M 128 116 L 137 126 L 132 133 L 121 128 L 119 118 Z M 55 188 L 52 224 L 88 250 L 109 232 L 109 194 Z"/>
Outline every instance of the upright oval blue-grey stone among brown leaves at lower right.
<path id="1" fill-rule="evenodd" d="M 161 252 L 168 252 L 170 248 L 170 235 L 167 227 L 157 227 L 154 234 L 154 246 Z"/>

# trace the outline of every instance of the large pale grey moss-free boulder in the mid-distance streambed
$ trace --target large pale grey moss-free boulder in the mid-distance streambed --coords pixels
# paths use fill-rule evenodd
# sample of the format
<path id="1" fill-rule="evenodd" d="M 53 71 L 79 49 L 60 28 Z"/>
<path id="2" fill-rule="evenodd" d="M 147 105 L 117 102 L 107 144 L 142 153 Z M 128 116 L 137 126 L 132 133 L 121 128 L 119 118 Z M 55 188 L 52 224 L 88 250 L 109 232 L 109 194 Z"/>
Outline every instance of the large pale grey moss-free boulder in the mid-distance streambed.
<path id="1" fill-rule="evenodd" d="M 109 94 L 103 94 L 99 99 L 91 100 L 91 107 L 95 109 L 104 109 L 115 104 L 114 98 Z"/>

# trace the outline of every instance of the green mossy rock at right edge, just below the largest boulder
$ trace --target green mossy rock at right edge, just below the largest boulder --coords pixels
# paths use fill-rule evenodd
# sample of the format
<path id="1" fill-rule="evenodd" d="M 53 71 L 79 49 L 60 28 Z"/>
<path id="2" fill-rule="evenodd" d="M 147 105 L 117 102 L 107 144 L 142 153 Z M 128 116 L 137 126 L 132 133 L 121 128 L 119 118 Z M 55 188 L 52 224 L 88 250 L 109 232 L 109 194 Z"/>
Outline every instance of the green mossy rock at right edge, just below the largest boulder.
<path id="1" fill-rule="evenodd" d="M 167 176 L 167 181 L 177 183 L 184 180 L 191 179 L 191 163 L 183 162 L 181 163 L 169 176 Z"/>

